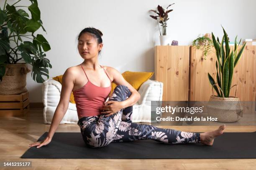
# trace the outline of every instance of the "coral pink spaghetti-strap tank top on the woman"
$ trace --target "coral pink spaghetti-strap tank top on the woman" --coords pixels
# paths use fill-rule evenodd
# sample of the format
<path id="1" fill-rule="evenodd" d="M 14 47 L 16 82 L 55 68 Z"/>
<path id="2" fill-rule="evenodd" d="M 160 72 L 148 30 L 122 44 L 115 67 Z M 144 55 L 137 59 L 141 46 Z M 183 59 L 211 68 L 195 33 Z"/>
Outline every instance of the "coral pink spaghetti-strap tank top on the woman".
<path id="1" fill-rule="evenodd" d="M 100 65 L 100 67 L 102 66 Z M 104 67 L 102 68 L 104 69 Z M 84 70 L 83 67 L 82 69 Z M 106 71 L 105 73 L 108 76 Z M 84 74 L 87 77 L 85 71 Z M 110 95 L 111 91 L 111 84 L 109 87 L 99 87 L 97 85 L 92 84 L 88 77 L 87 80 L 88 82 L 83 87 L 73 91 L 74 100 L 76 102 L 77 107 L 77 114 L 79 117 L 101 115 L 100 112 L 102 112 L 102 110 L 100 110 L 100 107 L 104 105 L 104 102 Z"/>

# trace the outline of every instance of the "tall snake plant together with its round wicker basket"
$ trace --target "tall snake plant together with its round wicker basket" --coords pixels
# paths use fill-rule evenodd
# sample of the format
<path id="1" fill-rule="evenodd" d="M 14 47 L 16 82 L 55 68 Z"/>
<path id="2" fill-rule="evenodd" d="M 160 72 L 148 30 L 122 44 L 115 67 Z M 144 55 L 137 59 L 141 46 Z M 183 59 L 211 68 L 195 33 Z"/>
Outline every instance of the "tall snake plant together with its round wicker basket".
<path id="1" fill-rule="evenodd" d="M 243 44 L 240 50 L 235 38 L 235 46 L 230 49 L 228 44 L 228 35 L 223 28 L 223 38 L 219 42 L 219 39 L 215 39 L 212 33 L 212 41 L 216 51 L 216 70 L 217 70 L 217 83 L 208 72 L 208 78 L 212 89 L 217 92 L 216 95 L 211 95 L 209 105 L 207 105 L 208 114 L 212 117 L 217 117 L 218 122 L 236 122 L 241 118 L 243 109 L 241 108 L 241 101 L 238 97 L 230 96 L 230 89 L 232 84 L 233 70 L 236 67 L 240 57 L 242 56 L 243 49 L 246 45 Z M 225 42 L 225 46 L 224 46 Z"/>

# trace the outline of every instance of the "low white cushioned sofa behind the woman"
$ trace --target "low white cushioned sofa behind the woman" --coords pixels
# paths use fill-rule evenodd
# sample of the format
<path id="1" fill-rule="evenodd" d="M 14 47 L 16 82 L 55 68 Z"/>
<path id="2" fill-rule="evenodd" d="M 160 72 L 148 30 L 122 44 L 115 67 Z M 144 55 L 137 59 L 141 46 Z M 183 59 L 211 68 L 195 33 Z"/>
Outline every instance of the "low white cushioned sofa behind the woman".
<path id="1" fill-rule="evenodd" d="M 43 82 L 44 123 L 51 124 L 52 117 L 60 100 L 61 83 L 52 78 Z M 147 80 L 139 88 L 140 100 L 133 105 L 133 122 L 151 122 L 151 100 L 161 101 L 163 83 Z M 161 106 L 159 106 L 161 107 Z M 69 102 L 69 107 L 60 124 L 76 124 L 78 122 L 76 104 Z"/>

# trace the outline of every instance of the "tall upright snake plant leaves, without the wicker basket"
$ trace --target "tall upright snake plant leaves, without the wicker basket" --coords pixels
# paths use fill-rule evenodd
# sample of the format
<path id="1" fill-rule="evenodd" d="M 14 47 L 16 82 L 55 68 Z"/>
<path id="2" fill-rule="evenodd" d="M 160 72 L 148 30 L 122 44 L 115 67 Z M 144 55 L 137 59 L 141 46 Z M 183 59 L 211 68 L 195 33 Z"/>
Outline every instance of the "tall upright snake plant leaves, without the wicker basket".
<path id="1" fill-rule="evenodd" d="M 229 97 L 234 67 L 236 67 L 238 60 L 242 56 L 243 49 L 246 43 L 244 43 L 241 49 L 238 50 L 238 45 L 240 44 L 241 39 L 237 44 L 236 42 L 237 36 L 236 36 L 234 49 L 233 47 L 230 49 L 228 44 L 228 36 L 224 28 L 223 28 L 223 32 L 224 32 L 224 35 L 222 37 L 221 42 L 219 41 L 218 37 L 216 40 L 215 36 L 212 33 L 212 41 L 216 50 L 216 57 L 217 57 L 216 70 L 217 70 L 218 85 L 215 83 L 215 80 L 212 78 L 209 72 L 208 72 L 208 78 L 210 80 L 210 84 L 217 92 L 218 97 Z M 225 42 L 225 47 L 224 47 L 224 42 Z M 218 88 L 220 89 L 220 91 Z"/>

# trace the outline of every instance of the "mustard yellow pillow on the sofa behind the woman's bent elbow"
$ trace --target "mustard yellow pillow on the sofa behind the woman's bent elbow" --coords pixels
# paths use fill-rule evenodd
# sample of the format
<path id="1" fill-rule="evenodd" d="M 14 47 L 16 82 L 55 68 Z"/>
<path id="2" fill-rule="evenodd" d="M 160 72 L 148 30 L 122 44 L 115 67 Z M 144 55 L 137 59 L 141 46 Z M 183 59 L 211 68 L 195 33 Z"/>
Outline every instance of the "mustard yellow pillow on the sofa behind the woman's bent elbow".
<path id="1" fill-rule="evenodd" d="M 148 79 L 150 79 L 150 77 L 152 77 L 153 74 L 154 72 L 131 72 L 131 71 L 125 71 L 122 73 L 123 78 L 128 83 L 130 83 L 137 91 L 139 90 L 143 82 L 146 82 Z M 117 85 L 114 82 L 112 82 L 111 92 L 110 92 L 111 94 L 113 93 L 116 86 Z"/>

